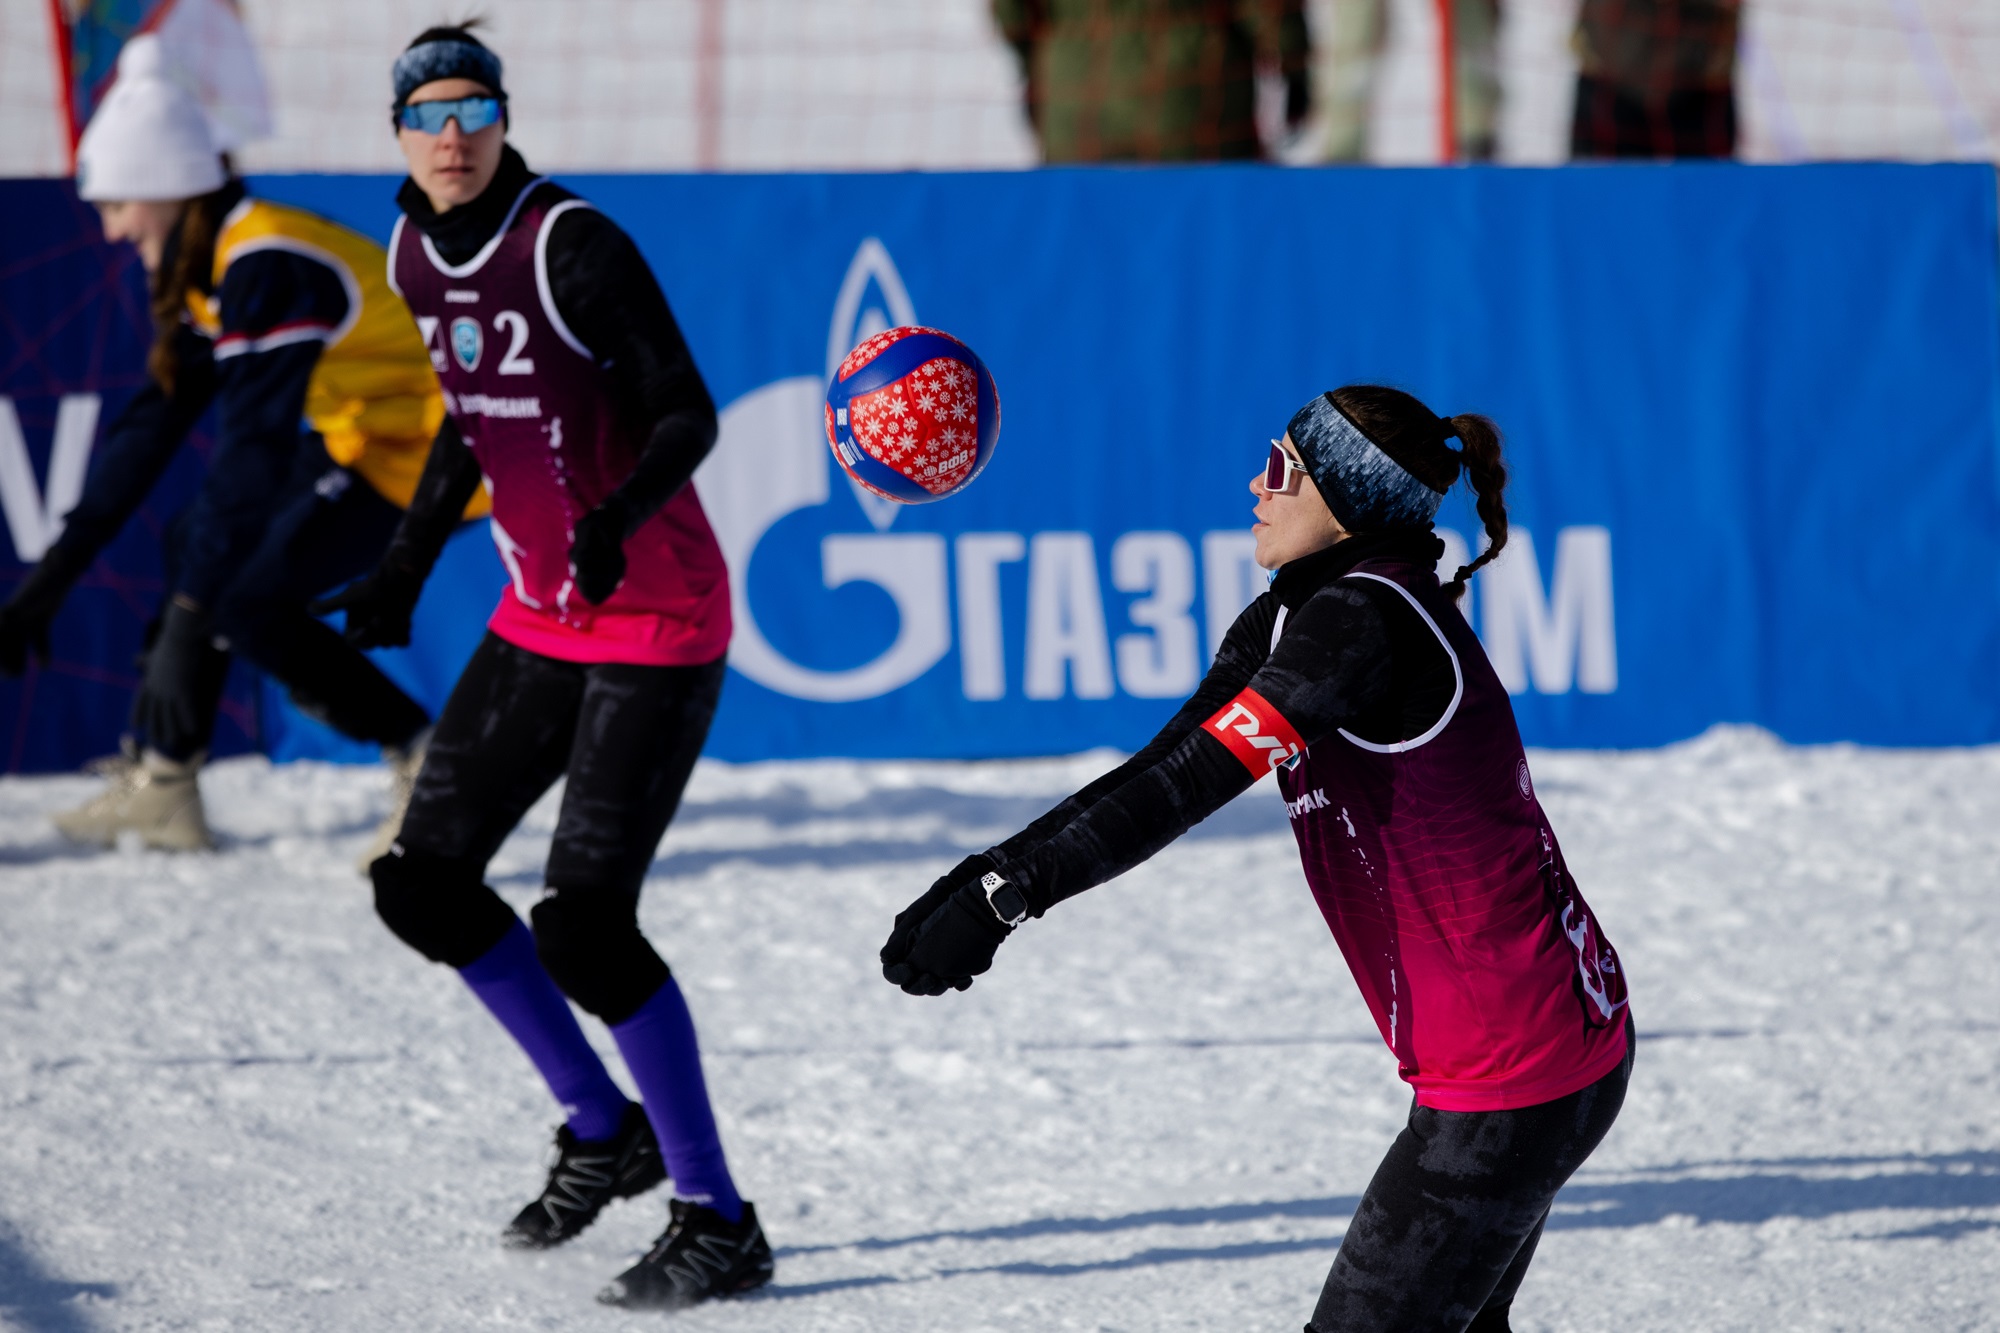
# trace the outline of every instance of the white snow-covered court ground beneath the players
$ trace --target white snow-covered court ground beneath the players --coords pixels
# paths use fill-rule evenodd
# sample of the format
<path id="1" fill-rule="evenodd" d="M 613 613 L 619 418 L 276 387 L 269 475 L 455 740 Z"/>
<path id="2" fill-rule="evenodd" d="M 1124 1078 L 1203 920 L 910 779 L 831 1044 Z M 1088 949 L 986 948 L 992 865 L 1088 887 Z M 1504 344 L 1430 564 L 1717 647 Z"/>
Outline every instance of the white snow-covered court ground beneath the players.
<path id="1" fill-rule="evenodd" d="M 1408 1097 L 1272 791 L 966 995 L 876 971 L 896 909 L 1104 763 L 698 773 L 644 923 L 778 1281 L 680 1327 L 1306 1321 Z M 2000 1327 L 2000 751 L 1718 731 L 1532 763 L 1644 1043 L 1516 1327 Z M 80 855 L 44 815 L 86 779 L 0 783 L 0 1321 L 658 1327 L 592 1303 L 658 1195 L 550 1255 L 496 1245 L 552 1107 L 376 923 L 352 859 L 382 775 L 206 781 L 204 857 Z M 516 905 L 550 821 L 494 867 Z"/>

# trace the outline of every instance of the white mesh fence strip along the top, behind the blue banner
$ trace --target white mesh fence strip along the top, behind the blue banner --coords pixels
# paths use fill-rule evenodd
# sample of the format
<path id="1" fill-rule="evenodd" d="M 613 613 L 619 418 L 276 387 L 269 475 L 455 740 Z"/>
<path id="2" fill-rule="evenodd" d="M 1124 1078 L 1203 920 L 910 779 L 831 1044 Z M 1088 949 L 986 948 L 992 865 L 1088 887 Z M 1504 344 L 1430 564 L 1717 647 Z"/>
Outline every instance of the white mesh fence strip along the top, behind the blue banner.
<path id="1" fill-rule="evenodd" d="M 1306 0 L 1318 34 L 1334 6 Z M 478 10 L 548 170 L 1006 168 L 1036 160 L 986 0 L 238 0 L 278 132 L 250 170 L 398 170 L 388 68 Z M 1368 156 L 1434 162 L 1438 0 L 1386 0 Z M 0 174 L 66 170 L 50 0 L 0 0 Z M 1576 0 L 1502 0 L 1500 158 L 1568 156 Z M 2000 0 L 1746 0 L 1742 156 L 2000 156 Z M 1266 120 L 1276 122 L 1276 114 Z M 1276 132 L 1272 134 L 1276 142 Z M 1318 122 L 1278 146 L 1324 152 Z"/>

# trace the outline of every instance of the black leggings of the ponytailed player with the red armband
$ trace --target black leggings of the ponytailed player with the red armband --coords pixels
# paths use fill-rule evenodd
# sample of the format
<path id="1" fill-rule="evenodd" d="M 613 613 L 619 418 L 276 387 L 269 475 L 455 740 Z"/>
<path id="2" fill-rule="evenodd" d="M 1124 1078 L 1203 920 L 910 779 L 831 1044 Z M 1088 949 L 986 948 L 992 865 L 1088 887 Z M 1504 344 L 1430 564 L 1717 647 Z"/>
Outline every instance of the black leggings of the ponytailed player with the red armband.
<path id="1" fill-rule="evenodd" d="M 1562 1183 L 1598 1147 L 1638 1039 L 1590 1087 L 1518 1111 L 1432 1111 L 1376 1169 L 1306 1333 L 1502 1333 Z"/>

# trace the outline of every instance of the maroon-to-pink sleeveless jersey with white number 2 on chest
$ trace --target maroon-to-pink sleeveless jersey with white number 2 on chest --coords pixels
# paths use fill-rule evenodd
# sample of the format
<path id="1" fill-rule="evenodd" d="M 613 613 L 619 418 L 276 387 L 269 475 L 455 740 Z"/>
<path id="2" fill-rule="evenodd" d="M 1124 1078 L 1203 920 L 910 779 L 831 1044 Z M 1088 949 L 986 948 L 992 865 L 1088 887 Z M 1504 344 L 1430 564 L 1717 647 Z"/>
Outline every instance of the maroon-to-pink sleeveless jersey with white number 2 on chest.
<path id="1" fill-rule="evenodd" d="M 488 624 L 572 662 L 712 662 L 730 640 L 728 572 L 692 484 L 626 540 L 626 578 L 602 606 L 570 580 L 576 520 L 632 474 L 646 442 L 548 290 L 548 230 L 570 208 L 590 204 L 534 180 L 464 264 L 446 264 L 404 218 L 388 244 L 390 286 L 416 314 L 444 408 L 492 492 L 512 586 Z"/>

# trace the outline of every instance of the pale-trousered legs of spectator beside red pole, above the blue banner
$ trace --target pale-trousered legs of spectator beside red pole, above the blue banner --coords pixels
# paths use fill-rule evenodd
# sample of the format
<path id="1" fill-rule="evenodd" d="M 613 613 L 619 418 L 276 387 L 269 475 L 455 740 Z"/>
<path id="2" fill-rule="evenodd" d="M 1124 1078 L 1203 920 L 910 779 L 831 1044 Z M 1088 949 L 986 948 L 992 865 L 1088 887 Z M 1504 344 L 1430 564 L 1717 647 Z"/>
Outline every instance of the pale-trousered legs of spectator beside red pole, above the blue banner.
<path id="1" fill-rule="evenodd" d="M 1388 38 L 1388 0 L 1326 0 L 1320 104 L 1326 116 L 1326 160 L 1368 156 L 1368 106 Z M 1452 0 L 1452 140 L 1464 162 L 1494 156 L 1500 122 L 1498 0 Z"/>

